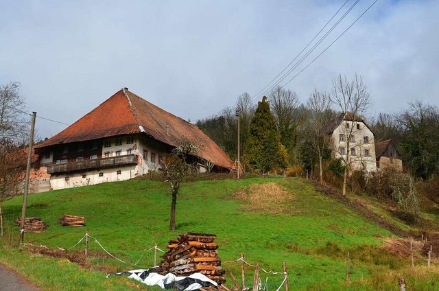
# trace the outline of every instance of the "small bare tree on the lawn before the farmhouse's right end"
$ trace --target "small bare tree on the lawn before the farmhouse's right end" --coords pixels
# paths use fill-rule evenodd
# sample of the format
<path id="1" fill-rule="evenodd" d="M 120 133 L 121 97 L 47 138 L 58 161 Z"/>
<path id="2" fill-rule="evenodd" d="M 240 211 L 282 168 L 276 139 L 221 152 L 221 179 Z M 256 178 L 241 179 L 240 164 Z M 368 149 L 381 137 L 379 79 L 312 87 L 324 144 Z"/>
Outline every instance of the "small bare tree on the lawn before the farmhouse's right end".
<path id="1" fill-rule="evenodd" d="M 198 151 L 198 146 L 195 146 L 189 139 L 179 139 L 176 142 L 176 148 L 161 161 L 165 181 L 171 187 L 171 217 L 169 220 L 169 229 L 171 231 L 176 229 L 176 206 L 180 185 L 185 181 L 188 174 L 195 171 L 195 166 L 188 163 L 188 160 L 191 154 Z"/>

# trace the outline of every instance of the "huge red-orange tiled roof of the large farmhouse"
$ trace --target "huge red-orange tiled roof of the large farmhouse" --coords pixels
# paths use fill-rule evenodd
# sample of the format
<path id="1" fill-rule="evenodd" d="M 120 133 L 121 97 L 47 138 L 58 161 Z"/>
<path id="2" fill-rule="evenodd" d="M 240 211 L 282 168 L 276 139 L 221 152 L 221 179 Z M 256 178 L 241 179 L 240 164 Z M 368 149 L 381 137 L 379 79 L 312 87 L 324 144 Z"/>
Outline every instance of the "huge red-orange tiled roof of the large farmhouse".
<path id="1" fill-rule="evenodd" d="M 170 146 L 176 146 L 176 139 L 183 137 L 195 143 L 202 141 L 198 156 L 220 167 L 232 166 L 230 158 L 197 126 L 143 100 L 126 88 L 35 148 L 141 132 Z"/>

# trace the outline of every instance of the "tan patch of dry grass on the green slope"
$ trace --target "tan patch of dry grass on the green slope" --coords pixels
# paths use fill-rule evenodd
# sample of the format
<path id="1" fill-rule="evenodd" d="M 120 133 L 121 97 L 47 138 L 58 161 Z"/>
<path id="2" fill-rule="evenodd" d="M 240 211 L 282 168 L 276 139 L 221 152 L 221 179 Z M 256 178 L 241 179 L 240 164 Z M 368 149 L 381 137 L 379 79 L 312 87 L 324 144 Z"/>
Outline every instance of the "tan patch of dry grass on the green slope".
<path id="1" fill-rule="evenodd" d="M 294 195 L 276 183 L 252 184 L 233 196 L 247 202 L 242 208 L 247 211 L 276 213 L 297 213 L 293 208 Z"/>

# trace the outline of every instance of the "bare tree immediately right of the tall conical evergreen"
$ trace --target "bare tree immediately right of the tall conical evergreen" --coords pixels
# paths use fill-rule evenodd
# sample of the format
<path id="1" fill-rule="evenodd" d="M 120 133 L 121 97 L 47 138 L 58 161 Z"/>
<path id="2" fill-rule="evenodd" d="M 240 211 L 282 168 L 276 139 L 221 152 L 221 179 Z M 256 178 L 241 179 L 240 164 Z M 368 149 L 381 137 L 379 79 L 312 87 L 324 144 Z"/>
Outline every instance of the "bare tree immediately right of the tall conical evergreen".
<path id="1" fill-rule="evenodd" d="M 290 163 L 294 163 L 296 130 L 301 119 L 300 102 L 296 92 L 276 86 L 268 95 L 270 107 L 281 135 L 281 143 L 287 149 Z"/>

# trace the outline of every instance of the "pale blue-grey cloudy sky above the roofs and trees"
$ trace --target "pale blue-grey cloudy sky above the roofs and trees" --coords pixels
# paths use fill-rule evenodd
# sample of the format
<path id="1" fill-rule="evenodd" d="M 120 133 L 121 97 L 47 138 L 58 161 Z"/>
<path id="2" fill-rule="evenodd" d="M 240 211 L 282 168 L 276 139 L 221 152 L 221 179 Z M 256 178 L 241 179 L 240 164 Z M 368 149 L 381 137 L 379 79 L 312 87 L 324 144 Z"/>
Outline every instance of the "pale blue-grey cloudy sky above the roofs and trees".
<path id="1" fill-rule="evenodd" d="M 293 79 L 284 88 L 306 102 L 336 75 L 357 73 L 374 102 L 369 116 L 415 100 L 438 105 L 439 1 L 378 0 L 340 36 L 374 1 L 360 0 L 280 84 Z M 0 84 L 21 82 L 29 112 L 62 122 L 36 119 L 40 138 L 123 87 L 195 121 L 235 106 L 244 92 L 260 101 L 257 93 L 345 2 L 0 0 Z"/>

